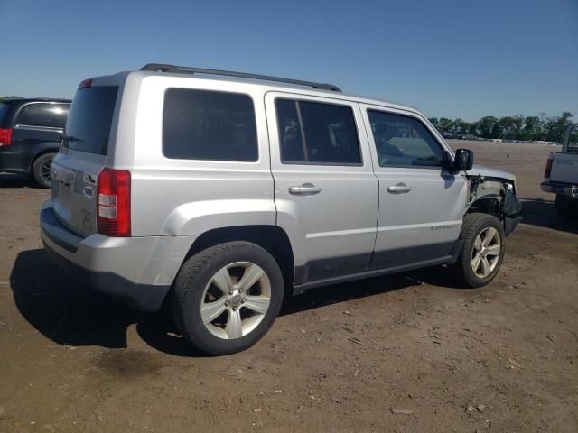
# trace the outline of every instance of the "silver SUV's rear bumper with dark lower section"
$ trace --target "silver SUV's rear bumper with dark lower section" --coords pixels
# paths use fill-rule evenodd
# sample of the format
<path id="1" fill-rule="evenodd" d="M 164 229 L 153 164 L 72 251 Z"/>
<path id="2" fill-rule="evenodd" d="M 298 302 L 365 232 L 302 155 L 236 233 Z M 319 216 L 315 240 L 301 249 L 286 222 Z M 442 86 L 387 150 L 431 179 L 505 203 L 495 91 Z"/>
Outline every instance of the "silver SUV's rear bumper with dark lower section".
<path id="1" fill-rule="evenodd" d="M 191 244 L 184 236 L 82 238 L 46 204 L 40 227 L 44 250 L 65 272 L 145 311 L 161 308 Z"/>

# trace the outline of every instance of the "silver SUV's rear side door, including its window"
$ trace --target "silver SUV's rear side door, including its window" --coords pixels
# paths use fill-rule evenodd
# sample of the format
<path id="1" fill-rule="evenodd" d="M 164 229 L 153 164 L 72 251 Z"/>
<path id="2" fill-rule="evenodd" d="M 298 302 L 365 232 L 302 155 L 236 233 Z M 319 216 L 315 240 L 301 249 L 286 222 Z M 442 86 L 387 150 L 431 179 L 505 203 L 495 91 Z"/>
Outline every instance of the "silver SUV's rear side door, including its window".
<path id="1" fill-rule="evenodd" d="M 266 114 L 277 225 L 294 246 L 294 283 L 366 271 L 378 181 L 359 104 L 270 92 Z"/>

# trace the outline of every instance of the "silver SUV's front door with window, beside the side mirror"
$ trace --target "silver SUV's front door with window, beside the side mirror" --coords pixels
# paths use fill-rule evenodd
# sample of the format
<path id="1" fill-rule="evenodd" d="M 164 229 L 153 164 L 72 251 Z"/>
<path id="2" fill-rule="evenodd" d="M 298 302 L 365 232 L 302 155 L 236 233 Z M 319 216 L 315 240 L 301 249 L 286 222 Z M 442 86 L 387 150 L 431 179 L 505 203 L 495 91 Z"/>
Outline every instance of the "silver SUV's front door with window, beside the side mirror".
<path id="1" fill-rule="evenodd" d="M 443 169 L 445 149 L 415 114 L 362 105 L 379 181 L 372 268 L 427 264 L 459 238 L 467 180 Z"/>

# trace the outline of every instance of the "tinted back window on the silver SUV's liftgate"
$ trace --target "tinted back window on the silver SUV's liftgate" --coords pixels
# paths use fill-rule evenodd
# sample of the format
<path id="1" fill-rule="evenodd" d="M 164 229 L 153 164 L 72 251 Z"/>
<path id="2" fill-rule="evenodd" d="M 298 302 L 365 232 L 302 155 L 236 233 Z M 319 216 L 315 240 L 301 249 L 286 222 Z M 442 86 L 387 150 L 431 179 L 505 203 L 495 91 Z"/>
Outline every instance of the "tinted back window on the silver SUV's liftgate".
<path id="1" fill-rule="evenodd" d="M 76 151 L 106 155 L 117 93 L 116 86 L 79 88 L 70 106 L 63 145 Z"/>

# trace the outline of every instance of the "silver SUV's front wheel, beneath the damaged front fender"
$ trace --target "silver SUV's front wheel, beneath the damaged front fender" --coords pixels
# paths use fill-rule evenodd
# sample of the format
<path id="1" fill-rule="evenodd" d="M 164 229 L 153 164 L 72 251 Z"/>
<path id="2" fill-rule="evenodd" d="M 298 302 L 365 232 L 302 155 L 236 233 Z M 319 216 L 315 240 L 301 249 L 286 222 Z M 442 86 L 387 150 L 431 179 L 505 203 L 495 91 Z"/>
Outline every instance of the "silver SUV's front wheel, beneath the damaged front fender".
<path id="1" fill-rule="evenodd" d="M 463 241 L 453 276 L 466 287 L 481 287 L 498 274 L 505 253 L 504 228 L 497 217 L 472 213 L 463 217 L 460 238 Z"/>

